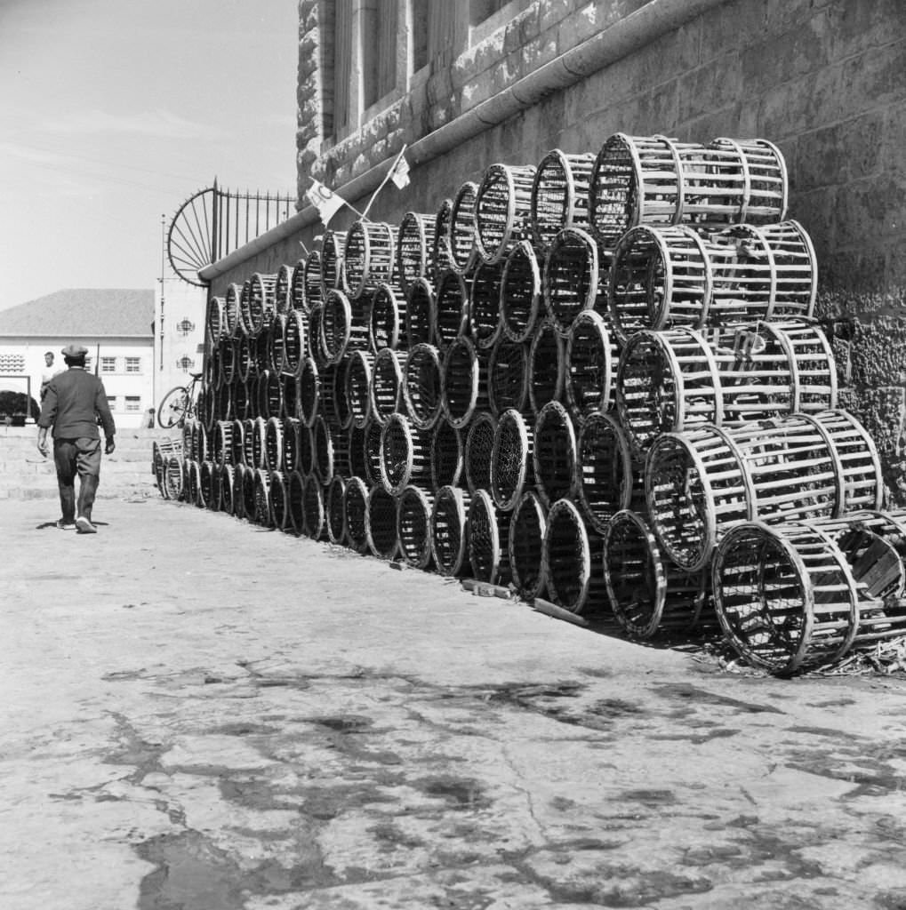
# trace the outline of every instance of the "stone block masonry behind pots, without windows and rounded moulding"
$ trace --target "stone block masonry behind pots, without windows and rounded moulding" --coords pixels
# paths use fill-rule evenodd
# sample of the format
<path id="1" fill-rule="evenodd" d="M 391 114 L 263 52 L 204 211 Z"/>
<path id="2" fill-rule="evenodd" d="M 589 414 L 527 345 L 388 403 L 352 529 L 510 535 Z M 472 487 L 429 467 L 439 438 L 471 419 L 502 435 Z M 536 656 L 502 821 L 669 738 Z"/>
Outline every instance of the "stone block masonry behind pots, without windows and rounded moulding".
<path id="1" fill-rule="evenodd" d="M 463 0 L 449 0 L 444 15 Z M 309 174 L 340 188 L 402 146 L 645 6 L 644 0 L 535 0 L 504 28 L 466 47 L 446 47 L 409 95 L 356 134 L 322 135 L 320 71 L 324 8 L 300 2 L 300 191 Z M 653 0 L 652 7 L 660 5 Z M 451 53 L 451 50 L 453 53 Z M 452 60 L 441 66 L 443 60 Z M 489 126 L 389 186 L 372 217 L 399 221 L 434 212 L 464 180 L 495 161 L 536 164 L 554 147 L 593 151 L 607 136 L 665 133 L 707 142 L 762 136 L 789 167 L 789 217 L 819 256 L 819 317 L 840 359 L 843 401 L 865 421 L 891 490 L 906 501 L 906 3 L 902 0 L 727 0 L 616 59 L 575 86 Z M 329 103 L 329 98 L 326 99 Z M 364 200 L 349 198 L 361 207 Z M 350 213 L 331 227 L 344 229 Z M 253 271 L 300 258 L 314 225 L 217 279 L 214 290 Z"/>

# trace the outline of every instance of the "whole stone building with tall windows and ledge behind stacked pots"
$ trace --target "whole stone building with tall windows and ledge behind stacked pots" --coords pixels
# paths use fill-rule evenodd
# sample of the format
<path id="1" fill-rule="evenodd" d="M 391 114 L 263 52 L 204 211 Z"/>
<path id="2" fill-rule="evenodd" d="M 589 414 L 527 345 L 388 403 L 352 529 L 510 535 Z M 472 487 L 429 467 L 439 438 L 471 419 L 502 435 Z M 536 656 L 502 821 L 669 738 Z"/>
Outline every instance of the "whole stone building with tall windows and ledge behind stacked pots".
<path id="1" fill-rule="evenodd" d="M 371 217 L 436 211 L 494 162 L 616 132 L 760 136 L 819 258 L 841 403 L 906 500 L 906 4 L 901 0 L 300 0 L 299 210 L 206 269 L 211 291 L 300 258 L 310 177 Z M 355 216 L 344 210 L 331 228 Z"/>

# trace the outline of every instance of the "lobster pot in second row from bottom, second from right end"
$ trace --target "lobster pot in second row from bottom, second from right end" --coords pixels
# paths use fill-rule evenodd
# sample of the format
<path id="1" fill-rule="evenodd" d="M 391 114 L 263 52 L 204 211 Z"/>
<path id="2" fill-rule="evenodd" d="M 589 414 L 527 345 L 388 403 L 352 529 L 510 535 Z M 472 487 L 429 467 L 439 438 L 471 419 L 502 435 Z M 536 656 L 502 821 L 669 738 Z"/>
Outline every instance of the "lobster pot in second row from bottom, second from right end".
<path id="1" fill-rule="evenodd" d="M 603 534 L 618 511 L 645 508 L 645 475 L 626 431 L 611 414 L 592 414 L 576 441 L 575 499 L 585 521 Z"/>

